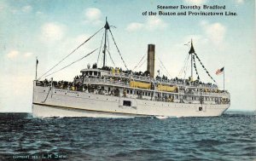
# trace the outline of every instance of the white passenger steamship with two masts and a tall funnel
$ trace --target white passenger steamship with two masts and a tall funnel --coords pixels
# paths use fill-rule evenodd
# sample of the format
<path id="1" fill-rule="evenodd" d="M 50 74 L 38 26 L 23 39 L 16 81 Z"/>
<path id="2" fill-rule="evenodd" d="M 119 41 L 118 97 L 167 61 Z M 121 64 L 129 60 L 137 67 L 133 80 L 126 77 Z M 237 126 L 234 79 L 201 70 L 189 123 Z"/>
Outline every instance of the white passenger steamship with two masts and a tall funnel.
<path id="1" fill-rule="evenodd" d="M 54 81 L 53 78 L 40 80 L 49 76 L 49 71 L 61 61 L 45 72 L 44 77 L 37 78 L 36 74 L 32 96 L 34 117 L 215 117 L 222 115 L 229 108 L 230 93 L 227 90 L 218 89 L 214 83 L 202 83 L 199 76 L 193 80 L 193 71 L 198 74 L 195 68 L 195 58 L 200 63 L 201 60 L 195 53 L 192 41 L 189 49 L 191 76 L 188 79 L 168 79 L 165 76 L 160 77 L 160 75 L 154 77 L 154 44 L 148 44 L 146 72 L 128 70 L 126 65 L 126 70 L 106 66 L 108 33 L 110 32 L 113 36 L 107 19 L 101 30 L 104 30 L 102 37 L 104 41 L 102 42 L 105 42 L 101 45 L 103 46 L 103 66 L 101 68 L 97 64 L 88 65 L 80 71 L 81 74 L 76 76 L 73 82 Z M 90 38 L 79 47 L 87 43 Z M 114 44 L 116 45 L 115 42 Z M 117 45 L 116 48 L 119 52 Z M 75 50 L 69 55 L 73 54 Z M 122 56 L 121 59 L 125 63 Z M 209 72 L 207 73 L 209 74 Z"/>

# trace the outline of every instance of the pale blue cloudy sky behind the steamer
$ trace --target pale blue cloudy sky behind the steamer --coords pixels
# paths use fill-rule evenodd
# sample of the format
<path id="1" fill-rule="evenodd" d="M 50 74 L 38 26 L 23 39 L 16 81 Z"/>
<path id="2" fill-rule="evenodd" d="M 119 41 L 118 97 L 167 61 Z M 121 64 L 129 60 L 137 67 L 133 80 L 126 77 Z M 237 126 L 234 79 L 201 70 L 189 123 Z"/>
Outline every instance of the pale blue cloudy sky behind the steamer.
<path id="1" fill-rule="evenodd" d="M 224 6 L 236 16 L 143 15 L 160 11 L 162 6 Z M 166 12 L 199 12 L 195 9 L 163 9 Z M 32 112 L 32 81 L 68 55 L 88 37 L 102 28 L 106 16 L 119 51 L 129 69 L 137 66 L 147 53 L 148 43 L 155 44 L 155 71 L 175 78 L 185 66 L 191 38 L 200 57 L 220 89 L 230 92 L 230 110 L 256 109 L 256 53 L 254 0 L 0 0 L 0 112 Z M 52 71 L 67 66 L 94 49 L 99 49 L 103 31 L 85 43 Z M 125 69 L 111 36 L 109 51 L 114 65 Z M 48 78 L 72 81 L 81 69 L 97 62 L 102 66 L 99 50 Z M 164 64 L 161 65 L 160 61 Z M 136 71 L 146 71 L 142 63 Z M 107 66 L 113 63 L 107 55 Z M 223 75 L 215 72 L 224 66 Z M 168 72 L 166 72 L 166 70 Z M 211 82 L 197 62 L 203 82 Z M 155 72 L 156 73 L 156 72 Z M 188 72 L 189 73 L 189 72 Z M 186 75 L 189 77 L 189 74 Z M 44 79 L 44 78 L 43 78 Z"/>

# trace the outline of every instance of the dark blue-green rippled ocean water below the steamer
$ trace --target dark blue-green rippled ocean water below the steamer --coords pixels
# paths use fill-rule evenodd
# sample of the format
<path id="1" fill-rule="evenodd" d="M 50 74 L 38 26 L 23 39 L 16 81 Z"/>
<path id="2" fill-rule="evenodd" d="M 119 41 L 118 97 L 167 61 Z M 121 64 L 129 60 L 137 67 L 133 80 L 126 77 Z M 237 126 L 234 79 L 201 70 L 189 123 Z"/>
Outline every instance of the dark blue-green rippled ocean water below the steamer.
<path id="1" fill-rule="evenodd" d="M 0 160 L 256 160 L 255 115 L 32 118 L 0 114 Z"/>

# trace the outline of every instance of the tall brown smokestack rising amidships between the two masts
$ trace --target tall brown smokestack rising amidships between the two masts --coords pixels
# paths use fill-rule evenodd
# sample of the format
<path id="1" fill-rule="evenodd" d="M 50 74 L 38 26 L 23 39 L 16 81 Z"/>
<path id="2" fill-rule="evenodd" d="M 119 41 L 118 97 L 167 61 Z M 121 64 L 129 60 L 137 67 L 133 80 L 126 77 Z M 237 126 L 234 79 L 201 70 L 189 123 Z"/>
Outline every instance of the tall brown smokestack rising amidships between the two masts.
<path id="1" fill-rule="evenodd" d="M 148 44 L 147 71 L 150 72 L 150 78 L 154 78 L 154 44 Z"/>

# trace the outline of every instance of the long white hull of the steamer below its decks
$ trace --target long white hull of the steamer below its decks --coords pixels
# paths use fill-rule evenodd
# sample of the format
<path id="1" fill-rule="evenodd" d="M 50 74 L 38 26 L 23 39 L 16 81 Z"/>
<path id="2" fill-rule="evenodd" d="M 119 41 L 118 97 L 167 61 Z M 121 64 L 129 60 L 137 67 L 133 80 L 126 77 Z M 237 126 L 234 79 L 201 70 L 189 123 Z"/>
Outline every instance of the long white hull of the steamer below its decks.
<path id="1" fill-rule="evenodd" d="M 148 101 L 41 86 L 33 90 L 32 113 L 38 118 L 214 117 L 230 106 Z M 123 101 L 131 101 L 131 106 L 123 106 Z"/>

